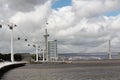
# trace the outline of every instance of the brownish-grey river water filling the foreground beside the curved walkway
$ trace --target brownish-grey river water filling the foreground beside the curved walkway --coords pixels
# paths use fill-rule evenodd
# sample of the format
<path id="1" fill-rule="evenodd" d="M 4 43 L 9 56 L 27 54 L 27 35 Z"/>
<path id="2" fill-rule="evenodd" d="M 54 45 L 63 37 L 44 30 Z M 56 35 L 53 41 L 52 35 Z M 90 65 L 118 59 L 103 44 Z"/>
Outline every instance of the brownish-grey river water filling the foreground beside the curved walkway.
<path id="1" fill-rule="evenodd" d="M 120 80 L 120 66 L 27 64 L 6 72 L 1 80 Z"/>

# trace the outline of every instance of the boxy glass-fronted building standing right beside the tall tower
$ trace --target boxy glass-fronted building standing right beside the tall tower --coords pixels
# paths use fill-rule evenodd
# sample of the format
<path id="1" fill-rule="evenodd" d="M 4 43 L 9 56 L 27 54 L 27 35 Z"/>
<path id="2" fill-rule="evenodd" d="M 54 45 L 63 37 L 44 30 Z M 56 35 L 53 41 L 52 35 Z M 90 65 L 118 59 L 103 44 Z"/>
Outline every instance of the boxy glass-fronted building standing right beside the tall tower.
<path id="1" fill-rule="evenodd" d="M 49 61 L 56 61 L 57 55 L 57 40 L 48 41 L 48 59 Z"/>

